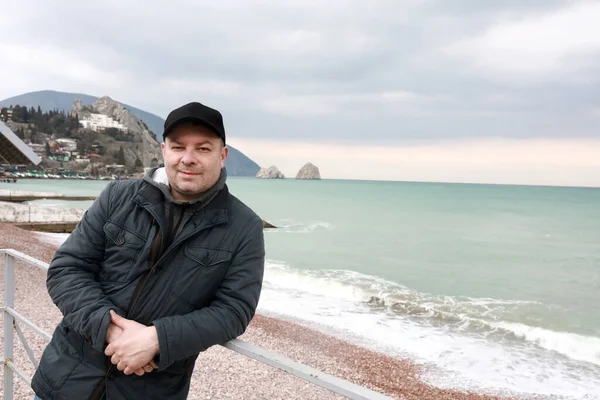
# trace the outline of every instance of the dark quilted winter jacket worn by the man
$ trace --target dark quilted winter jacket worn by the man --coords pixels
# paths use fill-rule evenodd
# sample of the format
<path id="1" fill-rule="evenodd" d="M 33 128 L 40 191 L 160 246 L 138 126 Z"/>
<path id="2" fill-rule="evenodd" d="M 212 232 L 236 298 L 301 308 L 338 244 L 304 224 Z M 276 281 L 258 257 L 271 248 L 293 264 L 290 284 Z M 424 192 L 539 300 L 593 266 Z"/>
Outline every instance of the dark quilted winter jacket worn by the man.
<path id="1" fill-rule="evenodd" d="M 172 237 L 167 197 L 148 179 L 111 182 L 57 250 L 47 287 L 64 318 L 32 380 L 40 398 L 89 399 L 103 385 L 107 400 L 185 399 L 198 354 L 241 335 L 254 317 L 262 219 L 223 183 Z M 157 370 L 138 377 L 111 367 L 111 309 L 156 327 Z"/>

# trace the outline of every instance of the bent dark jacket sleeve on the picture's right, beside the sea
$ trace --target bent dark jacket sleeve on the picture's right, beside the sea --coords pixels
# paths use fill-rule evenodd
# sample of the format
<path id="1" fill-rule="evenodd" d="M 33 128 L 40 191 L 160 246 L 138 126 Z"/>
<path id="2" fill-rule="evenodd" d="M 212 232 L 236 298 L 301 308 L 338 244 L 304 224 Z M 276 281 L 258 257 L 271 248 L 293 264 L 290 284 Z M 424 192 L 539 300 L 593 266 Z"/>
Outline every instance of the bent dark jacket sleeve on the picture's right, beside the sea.
<path id="1" fill-rule="evenodd" d="M 158 333 L 158 369 L 244 333 L 254 317 L 265 266 L 263 221 L 252 221 L 217 290 L 199 310 L 153 321 Z"/>

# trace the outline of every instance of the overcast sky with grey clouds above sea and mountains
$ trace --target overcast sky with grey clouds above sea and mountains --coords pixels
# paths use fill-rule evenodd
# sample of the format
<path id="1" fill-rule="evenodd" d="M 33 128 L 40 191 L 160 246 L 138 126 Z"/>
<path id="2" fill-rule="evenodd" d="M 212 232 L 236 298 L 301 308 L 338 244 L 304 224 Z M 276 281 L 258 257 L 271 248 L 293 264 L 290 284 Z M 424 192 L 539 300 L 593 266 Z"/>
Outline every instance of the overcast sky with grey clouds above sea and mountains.
<path id="1" fill-rule="evenodd" d="M 5 2 L 0 98 L 197 100 L 294 176 L 600 186 L 600 1 Z"/>

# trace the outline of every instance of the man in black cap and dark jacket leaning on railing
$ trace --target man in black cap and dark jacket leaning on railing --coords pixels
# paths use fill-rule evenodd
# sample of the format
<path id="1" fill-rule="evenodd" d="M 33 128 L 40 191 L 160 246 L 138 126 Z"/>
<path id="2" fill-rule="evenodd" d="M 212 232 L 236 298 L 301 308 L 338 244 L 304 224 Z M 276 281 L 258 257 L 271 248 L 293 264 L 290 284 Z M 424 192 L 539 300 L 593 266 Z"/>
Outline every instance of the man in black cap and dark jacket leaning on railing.
<path id="1" fill-rule="evenodd" d="M 221 114 L 186 104 L 163 139 L 165 166 L 111 182 L 50 263 L 41 399 L 185 399 L 198 354 L 254 317 L 263 221 L 228 192 Z"/>

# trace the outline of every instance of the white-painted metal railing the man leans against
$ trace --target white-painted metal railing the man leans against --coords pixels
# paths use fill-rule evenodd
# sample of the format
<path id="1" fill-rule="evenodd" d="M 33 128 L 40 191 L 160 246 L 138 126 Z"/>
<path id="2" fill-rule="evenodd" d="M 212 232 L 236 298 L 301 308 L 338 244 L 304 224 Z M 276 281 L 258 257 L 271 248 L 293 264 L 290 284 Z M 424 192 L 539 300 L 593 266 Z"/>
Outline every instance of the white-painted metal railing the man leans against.
<path id="1" fill-rule="evenodd" d="M 42 270 L 47 270 L 48 264 L 12 249 L 0 249 L 0 256 L 2 255 L 4 255 L 4 305 L 0 309 L 4 314 L 4 399 L 13 400 L 14 374 L 23 379 L 25 382 L 31 384 L 31 378 L 27 377 L 23 371 L 19 370 L 13 360 L 14 332 L 17 332 L 17 336 L 25 347 L 25 351 L 27 352 L 30 361 L 35 367 L 38 365 L 35 355 L 29 347 L 19 323 L 26 325 L 28 328 L 42 335 L 48 341 L 52 337 L 51 334 L 35 325 L 32 321 L 19 314 L 14 309 L 16 261 L 19 260 L 25 262 L 28 265 L 33 265 Z M 263 364 L 286 371 L 294 376 L 321 386 L 334 393 L 346 396 L 349 399 L 391 399 L 390 397 L 381 393 L 337 378 L 333 375 L 326 374 L 317 369 L 239 339 L 230 340 L 222 346 Z"/>

